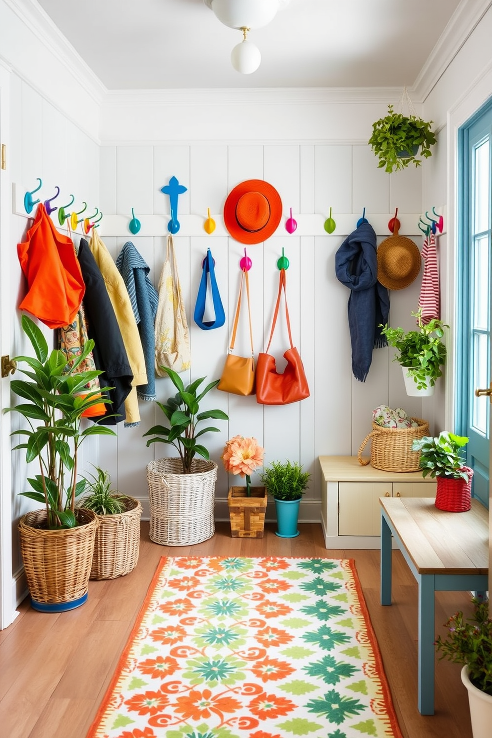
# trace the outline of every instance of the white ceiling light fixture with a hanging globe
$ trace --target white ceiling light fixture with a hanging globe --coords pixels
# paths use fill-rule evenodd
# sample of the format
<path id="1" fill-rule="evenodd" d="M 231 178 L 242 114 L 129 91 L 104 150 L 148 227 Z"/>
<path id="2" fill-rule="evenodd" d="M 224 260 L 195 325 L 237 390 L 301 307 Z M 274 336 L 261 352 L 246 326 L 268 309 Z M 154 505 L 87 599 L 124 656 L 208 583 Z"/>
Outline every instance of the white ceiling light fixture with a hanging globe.
<path id="1" fill-rule="evenodd" d="M 262 28 L 273 21 L 277 10 L 288 0 L 204 0 L 224 26 L 243 32 L 243 41 L 232 49 L 231 62 L 242 75 L 251 75 L 260 66 L 260 49 L 248 41 L 252 28 Z"/>

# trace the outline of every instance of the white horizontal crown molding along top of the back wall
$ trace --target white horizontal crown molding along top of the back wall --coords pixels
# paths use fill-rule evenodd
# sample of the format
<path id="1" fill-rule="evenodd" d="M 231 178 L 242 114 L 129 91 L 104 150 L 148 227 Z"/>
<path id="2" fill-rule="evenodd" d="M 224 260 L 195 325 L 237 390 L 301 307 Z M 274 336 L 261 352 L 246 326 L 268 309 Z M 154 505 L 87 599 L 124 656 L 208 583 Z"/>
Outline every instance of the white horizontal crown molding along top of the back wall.
<path id="1" fill-rule="evenodd" d="M 257 87 L 253 89 L 108 90 L 104 106 L 221 104 L 326 105 L 334 103 L 388 103 L 401 97 L 401 87 Z M 418 102 L 418 100 L 415 100 Z"/>

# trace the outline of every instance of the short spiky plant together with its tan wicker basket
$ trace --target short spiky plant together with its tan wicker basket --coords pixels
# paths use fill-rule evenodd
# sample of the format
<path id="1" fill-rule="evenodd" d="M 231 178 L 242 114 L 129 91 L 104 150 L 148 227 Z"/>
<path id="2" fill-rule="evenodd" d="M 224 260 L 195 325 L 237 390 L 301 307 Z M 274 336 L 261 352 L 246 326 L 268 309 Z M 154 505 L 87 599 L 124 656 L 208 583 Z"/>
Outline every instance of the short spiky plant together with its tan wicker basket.
<path id="1" fill-rule="evenodd" d="M 133 571 L 139 560 L 142 505 L 115 491 L 109 472 L 100 466 L 95 470 L 80 500 L 80 507 L 93 510 L 99 520 L 90 579 L 116 579 Z"/>

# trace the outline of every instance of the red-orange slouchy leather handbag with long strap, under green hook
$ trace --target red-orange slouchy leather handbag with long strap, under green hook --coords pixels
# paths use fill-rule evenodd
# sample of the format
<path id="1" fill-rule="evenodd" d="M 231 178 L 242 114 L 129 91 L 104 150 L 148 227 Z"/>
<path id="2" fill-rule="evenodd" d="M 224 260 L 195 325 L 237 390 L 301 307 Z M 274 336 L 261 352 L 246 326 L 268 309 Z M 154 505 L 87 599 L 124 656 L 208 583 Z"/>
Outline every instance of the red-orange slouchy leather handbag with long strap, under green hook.
<path id="1" fill-rule="evenodd" d="M 284 359 L 287 366 L 280 374 L 274 356 L 268 354 L 271 339 L 274 334 L 275 324 L 280 306 L 282 291 L 285 300 L 285 318 L 287 320 L 288 339 L 291 348 L 285 351 Z M 305 376 L 299 351 L 294 347 L 291 336 L 291 322 L 288 317 L 287 295 L 285 294 L 285 269 L 280 269 L 279 292 L 277 305 L 275 306 L 274 320 L 271 324 L 270 340 L 265 354 L 258 355 L 256 366 L 256 401 L 263 405 L 286 405 L 309 397 L 308 380 Z"/>

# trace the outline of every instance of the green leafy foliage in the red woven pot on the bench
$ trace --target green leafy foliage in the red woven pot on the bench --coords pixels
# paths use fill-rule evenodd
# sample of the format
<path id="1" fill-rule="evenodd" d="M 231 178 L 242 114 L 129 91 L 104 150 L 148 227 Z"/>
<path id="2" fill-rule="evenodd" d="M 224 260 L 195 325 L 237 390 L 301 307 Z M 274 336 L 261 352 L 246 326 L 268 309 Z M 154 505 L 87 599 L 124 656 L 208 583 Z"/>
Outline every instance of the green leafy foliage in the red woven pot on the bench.
<path id="1" fill-rule="evenodd" d="M 462 449 L 468 444 L 465 435 L 454 435 L 447 430 L 432 438 L 424 435 L 412 441 L 412 451 L 420 451 L 420 469 L 423 477 L 451 477 L 468 482 L 468 474 L 463 470 Z"/>

